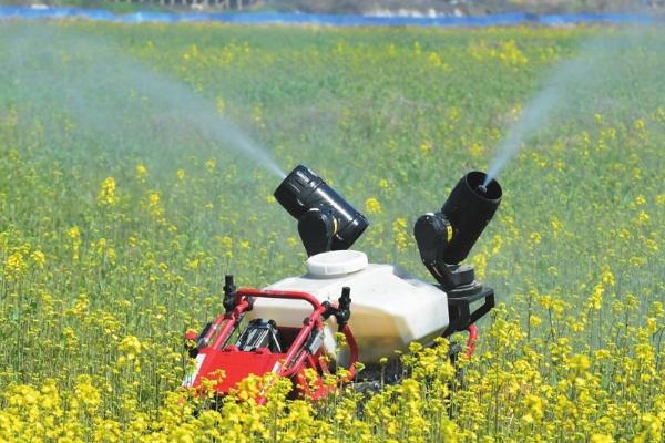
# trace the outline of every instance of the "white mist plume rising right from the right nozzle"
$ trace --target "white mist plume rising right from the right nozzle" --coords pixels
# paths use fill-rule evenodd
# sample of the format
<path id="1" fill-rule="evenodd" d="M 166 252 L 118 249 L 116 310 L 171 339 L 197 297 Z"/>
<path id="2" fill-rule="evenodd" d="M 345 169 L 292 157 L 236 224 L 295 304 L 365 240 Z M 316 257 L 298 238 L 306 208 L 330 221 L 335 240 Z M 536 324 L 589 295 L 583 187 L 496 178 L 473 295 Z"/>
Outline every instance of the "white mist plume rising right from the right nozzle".
<path id="1" fill-rule="evenodd" d="M 634 91 L 634 97 L 648 94 L 655 84 L 653 69 L 625 63 L 626 51 L 642 51 L 665 55 L 653 37 L 653 28 L 624 28 L 594 35 L 583 42 L 577 54 L 556 65 L 544 78 L 541 90 L 524 105 L 518 120 L 501 140 L 483 186 L 487 186 L 529 142 L 530 137 L 546 130 L 559 117 L 580 119 L 584 113 L 604 112 L 603 103 L 624 102 L 637 109 L 638 100 L 621 101 L 620 91 Z M 635 91 L 640 90 L 640 91 Z M 661 96 L 656 93 L 655 96 Z M 592 107 L 595 106 L 595 110 Z"/>

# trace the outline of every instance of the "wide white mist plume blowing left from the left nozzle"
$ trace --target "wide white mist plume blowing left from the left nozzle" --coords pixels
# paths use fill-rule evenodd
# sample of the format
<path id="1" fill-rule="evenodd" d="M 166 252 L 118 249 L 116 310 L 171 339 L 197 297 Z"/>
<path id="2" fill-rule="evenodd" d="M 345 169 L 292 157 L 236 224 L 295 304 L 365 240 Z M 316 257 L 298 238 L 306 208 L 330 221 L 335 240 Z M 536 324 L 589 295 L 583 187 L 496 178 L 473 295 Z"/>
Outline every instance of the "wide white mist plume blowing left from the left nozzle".
<path id="1" fill-rule="evenodd" d="M 145 65 L 111 38 L 49 22 L 2 24 L 0 35 L 3 76 L 34 114 L 55 105 L 81 134 L 154 146 L 157 156 L 182 153 L 184 146 L 235 152 L 286 176 L 265 148 L 219 115 L 214 102 Z"/>

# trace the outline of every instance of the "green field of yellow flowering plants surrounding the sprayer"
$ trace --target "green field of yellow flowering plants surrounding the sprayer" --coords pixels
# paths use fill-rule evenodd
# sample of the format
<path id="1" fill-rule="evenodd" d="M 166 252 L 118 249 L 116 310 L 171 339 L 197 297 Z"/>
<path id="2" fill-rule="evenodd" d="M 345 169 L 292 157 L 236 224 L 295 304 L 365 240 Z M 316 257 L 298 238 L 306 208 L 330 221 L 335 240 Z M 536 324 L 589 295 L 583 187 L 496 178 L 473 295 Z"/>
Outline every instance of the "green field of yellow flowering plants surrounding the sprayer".
<path id="1" fill-rule="evenodd" d="M 238 146 L 310 166 L 370 218 L 355 248 L 429 280 L 416 217 L 488 169 L 552 66 L 616 32 L 0 23 L 0 441 L 662 442 L 656 30 L 500 175 L 470 259 L 500 303 L 462 380 L 442 341 L 371 398 L 276 383 L 257 406 L 248 380 L 212 410 L 178 390 L 224 274 L 304 269 L 280 178 Z"/>

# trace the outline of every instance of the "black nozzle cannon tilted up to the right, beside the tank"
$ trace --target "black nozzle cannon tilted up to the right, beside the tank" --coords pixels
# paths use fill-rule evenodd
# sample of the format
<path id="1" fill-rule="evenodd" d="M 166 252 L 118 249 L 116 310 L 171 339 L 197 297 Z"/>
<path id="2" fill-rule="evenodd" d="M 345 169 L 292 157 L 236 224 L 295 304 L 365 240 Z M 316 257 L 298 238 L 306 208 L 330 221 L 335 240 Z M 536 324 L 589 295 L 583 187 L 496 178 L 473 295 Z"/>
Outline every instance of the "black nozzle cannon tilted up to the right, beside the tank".
<path id="1" fill-rule="evenodd" d="M 501 203 L 501 186 L 487 175 L 464 175 L 437 213 L 428 213 L 416 222 L 413 235 L 420 257 L 443 289 L 456 289 L 473 281 L 473 269 L 458 266 L 490 223 Z"/>

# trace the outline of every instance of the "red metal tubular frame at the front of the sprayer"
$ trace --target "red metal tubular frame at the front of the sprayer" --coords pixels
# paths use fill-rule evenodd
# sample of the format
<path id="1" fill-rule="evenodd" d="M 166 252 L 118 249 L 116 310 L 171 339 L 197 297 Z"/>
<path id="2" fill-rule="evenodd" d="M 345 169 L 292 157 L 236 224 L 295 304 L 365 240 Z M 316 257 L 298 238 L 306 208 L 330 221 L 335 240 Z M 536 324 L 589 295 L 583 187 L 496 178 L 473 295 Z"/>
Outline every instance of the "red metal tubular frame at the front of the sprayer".
<path id="1" fill-rule="evenodd" d="M 295 299 L 309 302 L 313 312 L 303 323 L 300 331 L 290 343 L 285 353 L 272 352 L 262 348 L 255 351 L 241 351 L 235 346 L 228 346 L 228 339 L 239 326 L 244 313 L 250 306 L 250 298 L 279 298 Z M 245 377 L 254 373 L 264 375 L 274 372 L 279 377 L 290 378 L 296 393 L 301 396 L 318 400 L 327 395 L 336 387 L 327 387 L 324 383 L 323 375 L 329 374 L 330 370 L 318 349 L 315 354 L 305 349 L 305 343 L 314 330 L 323 330 L 324 313 L 327 307 L 321 305 L 313 295 L 301 291 L 287 290 L 262 290 L 254 288 L 241 288 L 236 291 L 236 306 L 228 312 L 217 317 L 203 337 L 203 343 L 206 346 L 198 349 L 197 369 L 192 378 L 183 383 L 187 387 L 200 387 L 203 380 L 209 380 L 213 389 L 222 394 L 227 394 L 233 390 L 237 382 Z M 354 333 L 348 324 L 341 330 L 349 347 L 349 365 L 347 371 L 349 375 L 342 379 L 342 382 L 352 380 L 356 375 L 355 363 L 358 361 L 358 344 Z M 209 344 L 212 343 L 212 344 Z M 317 374 L 314 380 L 314 390 L 306 378 L 306 369 L 313 369 Z M 218 371 L 225 371 L 225 377 L 221 377 Z M 256 399 L 258 403 L 264 403 L 265 398 Z"/>

